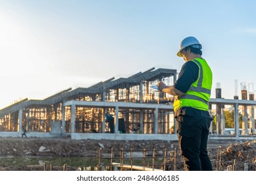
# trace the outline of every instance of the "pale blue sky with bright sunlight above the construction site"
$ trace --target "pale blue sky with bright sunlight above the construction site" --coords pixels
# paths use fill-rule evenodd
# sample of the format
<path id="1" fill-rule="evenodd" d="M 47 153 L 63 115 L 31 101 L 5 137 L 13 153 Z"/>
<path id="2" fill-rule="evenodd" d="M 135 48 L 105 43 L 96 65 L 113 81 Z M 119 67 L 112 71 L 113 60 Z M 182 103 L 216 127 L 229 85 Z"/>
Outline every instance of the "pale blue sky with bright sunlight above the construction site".
<path id="1" fill-rule="evenodd" d="M 150 68 L 196 37 L 222 97 L 254 93 L 256 1 L 0 0 L 0 108 Z M 237 85 L 235 85 L 237 81 Z M 256 89 L 256 85 L 255 85 Z M 238 93 L 238 94 L 236 94 Z"/>

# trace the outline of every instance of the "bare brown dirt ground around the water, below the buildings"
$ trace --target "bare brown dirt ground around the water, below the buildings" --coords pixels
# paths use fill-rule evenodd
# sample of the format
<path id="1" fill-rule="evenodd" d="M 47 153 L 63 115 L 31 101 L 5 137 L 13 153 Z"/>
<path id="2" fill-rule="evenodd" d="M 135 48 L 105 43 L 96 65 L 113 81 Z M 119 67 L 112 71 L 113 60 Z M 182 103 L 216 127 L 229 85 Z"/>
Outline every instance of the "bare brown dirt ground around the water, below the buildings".
<path id="1" fill-rule="evenodd" d="M 173 170 L 174 149 L 178 156 L 177 163 L 182 163 L 177 141 L 107 141 L 107 140 L 72 140 L 66 138 L 11 138 L 0 137 L 0 157 L 26 157 L 26 156 L 53 156 L 53 157 L 88 157 L 97 156 L 97 150 L 101 148 L 101 156 L 110 155 L 111 148 L 115 149 L 115 156 L 120 156 L 120 150 L 130 152 L 143 152 L 147 150 L 147 156 L 155 149 L 156 156 L 164 157 L 165 149 L 168 150 L 168 161 L 166 170 Z M 220 151 L 218 151 L 220 150 Z M 118 155 L 119 154 L 119 155 Z M 256 170 L 256 141 L 219 141 L 209 140 L 209 155 L 213 163 L 213 168 L 226 170 L 228 166 L 235 163 L 236 170 Z M 178 160 L 178 161 L 177 161 Z M 219 162 L 217 161 L 219 160 Z M 176 170 L 184 170 L 184 165 L 176 166 Z M 10 167 L 1 164 L 0 170 L 43 170 L 38 166 L 16 166 Z M 55 168 L 54 170 L 63 170 Z M 66 167 L 66 170 L 77 170 Z"/>

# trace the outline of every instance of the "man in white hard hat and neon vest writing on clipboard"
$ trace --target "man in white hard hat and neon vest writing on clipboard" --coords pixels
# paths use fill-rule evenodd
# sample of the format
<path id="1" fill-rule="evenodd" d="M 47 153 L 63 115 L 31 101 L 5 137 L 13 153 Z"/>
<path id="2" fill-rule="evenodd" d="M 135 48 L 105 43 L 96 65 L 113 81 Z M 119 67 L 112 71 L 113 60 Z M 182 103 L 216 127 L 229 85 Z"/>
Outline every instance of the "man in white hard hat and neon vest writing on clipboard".
<path id="1" fill-rule="evenodd" d="M 195 37 L 186 37 L 180 43 L 178 57 L 183 64 L 174 85 L 163 81 L 158 89 L 174 95 L 174 117 L 185 170 L 211 171 L 211 160 L 207 154 L 209 127 L 213 120 L 209 114 L 209 99 L 213 74 L 206 60 L 202 58 L 202 45 Z"/>

